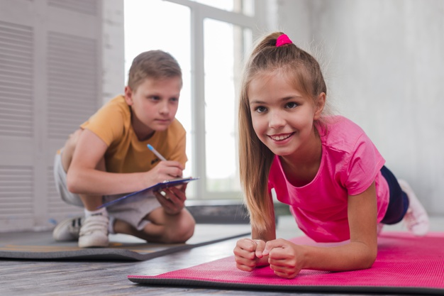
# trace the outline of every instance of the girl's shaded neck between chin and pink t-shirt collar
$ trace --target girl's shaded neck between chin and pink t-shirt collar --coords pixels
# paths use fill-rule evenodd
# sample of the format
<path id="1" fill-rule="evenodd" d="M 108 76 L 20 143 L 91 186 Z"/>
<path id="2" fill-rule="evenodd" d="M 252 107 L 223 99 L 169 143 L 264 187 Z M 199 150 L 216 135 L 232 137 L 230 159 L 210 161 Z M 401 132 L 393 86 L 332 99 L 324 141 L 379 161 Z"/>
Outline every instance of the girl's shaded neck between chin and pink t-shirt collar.
<path id="1" fill-rule="evenodd" d="M 313 128 L 313 137 L 293 155 L 280 156 L 282 169 L 292 185 L 301 187 L 309 184 L 318 173 L 322 158 L 321 138 Z"/>

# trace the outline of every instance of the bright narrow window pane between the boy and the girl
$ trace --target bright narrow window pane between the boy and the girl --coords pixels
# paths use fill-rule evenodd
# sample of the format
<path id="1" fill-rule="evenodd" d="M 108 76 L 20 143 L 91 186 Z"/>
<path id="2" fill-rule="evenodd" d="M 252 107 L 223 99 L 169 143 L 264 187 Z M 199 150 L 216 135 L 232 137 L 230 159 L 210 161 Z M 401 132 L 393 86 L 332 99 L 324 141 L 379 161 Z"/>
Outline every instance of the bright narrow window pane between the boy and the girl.
<path id="1" fill-rule="evenodd" d="M 204 20 L 206 190 L 209 192 L 240 190 L 238 83 L 243 40 L 248 32 L 231 23 Z"/>

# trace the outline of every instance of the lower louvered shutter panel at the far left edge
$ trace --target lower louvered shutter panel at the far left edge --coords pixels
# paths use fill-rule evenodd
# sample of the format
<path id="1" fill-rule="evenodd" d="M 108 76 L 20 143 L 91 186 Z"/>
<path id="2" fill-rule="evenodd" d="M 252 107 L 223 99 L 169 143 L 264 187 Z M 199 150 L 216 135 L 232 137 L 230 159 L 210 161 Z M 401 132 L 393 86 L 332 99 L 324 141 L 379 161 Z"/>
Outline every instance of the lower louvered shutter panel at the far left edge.
<path id="1" fill-rule="evenodd" d="M 0 165 L 0 221 L 33 217 L 33 168 Z"/>

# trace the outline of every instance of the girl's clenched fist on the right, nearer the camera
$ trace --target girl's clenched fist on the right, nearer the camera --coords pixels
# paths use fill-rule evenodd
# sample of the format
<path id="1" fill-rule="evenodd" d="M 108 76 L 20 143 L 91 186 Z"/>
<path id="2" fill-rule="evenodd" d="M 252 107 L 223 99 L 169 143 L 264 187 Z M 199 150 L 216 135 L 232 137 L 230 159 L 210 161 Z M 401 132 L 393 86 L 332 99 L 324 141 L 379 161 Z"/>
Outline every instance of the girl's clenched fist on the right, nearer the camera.
<path id="1" fill-rule="evenodd" d="M 284 239 L 267 241 L 263 256 L 268 256 L 268 263 L 275 275 L 282 278 L 294 278 L 301 271 L 301 258 L 298 246 Z"/>

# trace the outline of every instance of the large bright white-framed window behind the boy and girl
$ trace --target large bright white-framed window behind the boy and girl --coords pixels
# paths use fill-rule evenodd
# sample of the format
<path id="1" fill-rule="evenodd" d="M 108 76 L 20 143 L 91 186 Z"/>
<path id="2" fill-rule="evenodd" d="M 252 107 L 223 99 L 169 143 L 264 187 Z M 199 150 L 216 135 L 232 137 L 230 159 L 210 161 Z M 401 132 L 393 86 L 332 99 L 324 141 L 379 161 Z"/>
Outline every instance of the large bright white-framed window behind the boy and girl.
<path id="1" fill-rule="evenodd" d="M 126 80 L 133 58 L 146 50 L 165 50 L 182 67 L 184 87 L 176 117 L 187 130 L 184 176 L 201 177 L 189 184 L 190 199 L 240 197 L 238 87 L 257 27 L 254 2 L 124 2 Z"/>

